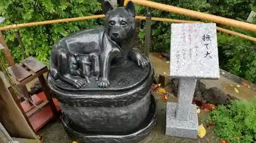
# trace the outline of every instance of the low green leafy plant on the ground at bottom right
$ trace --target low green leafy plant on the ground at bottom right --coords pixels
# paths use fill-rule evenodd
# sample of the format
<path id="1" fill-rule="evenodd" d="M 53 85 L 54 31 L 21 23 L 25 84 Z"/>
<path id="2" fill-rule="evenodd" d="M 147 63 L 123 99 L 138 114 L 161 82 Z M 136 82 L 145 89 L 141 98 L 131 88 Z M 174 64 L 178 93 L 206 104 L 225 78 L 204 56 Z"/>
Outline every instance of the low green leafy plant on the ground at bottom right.
<path id="1" fill-rule="evenodd" d="M 230 143 L 256 141 L 256 101 L 231 101 L 207 115 L 208 123 L 216 123 L 214 132 Z"/>

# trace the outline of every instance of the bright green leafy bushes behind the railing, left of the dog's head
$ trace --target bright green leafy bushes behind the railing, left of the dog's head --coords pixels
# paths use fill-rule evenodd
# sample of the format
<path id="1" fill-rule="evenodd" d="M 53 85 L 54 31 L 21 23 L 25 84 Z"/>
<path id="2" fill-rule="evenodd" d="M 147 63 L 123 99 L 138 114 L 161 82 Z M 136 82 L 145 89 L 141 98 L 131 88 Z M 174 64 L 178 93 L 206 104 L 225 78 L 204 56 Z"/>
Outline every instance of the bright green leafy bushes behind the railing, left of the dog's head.
<path id="1" fill-rule="evenodd" d="M 100 10 L 101 5 L 93 0 L 0 0 L 0 16 L 6 18 L 2 25 L 90 16 Z M 56 40 L 100 23 L 100 19 L 90 19 L 23 27 L 18 30 L 26 55 L 48 64 L 51 48 Z M 3 34 L 15 62 L 22 60 L 23 54 L 14 30 L 4 31 Z"/>

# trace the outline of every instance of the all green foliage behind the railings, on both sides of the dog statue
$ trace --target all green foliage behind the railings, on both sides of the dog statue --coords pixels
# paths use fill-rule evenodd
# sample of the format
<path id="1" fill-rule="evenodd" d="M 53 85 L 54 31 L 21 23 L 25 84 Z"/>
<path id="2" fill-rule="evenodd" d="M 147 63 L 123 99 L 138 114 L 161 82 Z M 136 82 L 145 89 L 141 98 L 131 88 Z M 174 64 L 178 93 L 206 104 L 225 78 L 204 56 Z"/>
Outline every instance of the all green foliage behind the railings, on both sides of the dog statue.
<path id="1" fill-rule="evenodd" d="M 211 1 L 211 2 L 210 2 Z M 154 2 L 177 6 L 185 9 L 214 14 L 227 18 L 245 21 L 251 10 L 256 10 L 256 1 L 251 0 L 154 0 Z M 101 5 L 94 0 L 0 0 L 0 16 L 6 20 L 3 25 L 46 21 L 61 18 L 89 16 L 101 10 Z M 136 12 L 145 15 L 145 7 L 136 5 Z M 165 11 L 152 11 L 153 17 L 180 20 L 197 20 L 184 15 Z M 19 28 L 20 36 L 25 45 L 26 55 L 34 56 L 48 64 L 52 44 L 69 33 L 101 24 L 102 19 L 65 22 Z M 256 24 L 256 21 L 254 22 Z M 223 25 L 218 24 L 223 27 Z M 253 32 L 225 27 L 232 31 L 256 37 Z M 20 46 L 15 38 L 14 30 L 4 31 L 5 39 L 15 62 L 23 59 Z M 145 29 L 139 33 L 144 46 Z M 170 23 L 152 21 L 151 51 L 169 52 Z M 256 52 L 255 42 L 239 37 L 218 33 L 220 67 L 233 74 L 256 83 Z"/>

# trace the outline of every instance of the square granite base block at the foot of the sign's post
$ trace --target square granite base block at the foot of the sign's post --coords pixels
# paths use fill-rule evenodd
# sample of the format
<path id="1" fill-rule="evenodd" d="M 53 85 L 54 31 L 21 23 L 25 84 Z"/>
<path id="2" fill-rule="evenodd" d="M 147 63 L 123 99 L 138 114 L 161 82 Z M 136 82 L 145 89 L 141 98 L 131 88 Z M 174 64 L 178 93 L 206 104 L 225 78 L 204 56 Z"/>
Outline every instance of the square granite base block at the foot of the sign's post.
<path id="1" fill-rule="evenodd" d="M 197 138 L 198 135 L 198 117 L 196 105 L 190 104 L 189 120 L 177 120 L 175 117 L 177 103 L 168 102 L 166 105 L 166 130 L 165 135 Z"/>

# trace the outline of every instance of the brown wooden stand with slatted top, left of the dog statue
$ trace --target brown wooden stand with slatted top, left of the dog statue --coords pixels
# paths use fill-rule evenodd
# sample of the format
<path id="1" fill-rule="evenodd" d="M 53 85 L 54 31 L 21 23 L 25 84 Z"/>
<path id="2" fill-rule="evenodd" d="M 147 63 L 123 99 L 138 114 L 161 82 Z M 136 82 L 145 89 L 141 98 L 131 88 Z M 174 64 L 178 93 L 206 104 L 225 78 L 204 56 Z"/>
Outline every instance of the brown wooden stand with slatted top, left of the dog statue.
<path id="1" fill-rule="evenodd" d="M 50 105 L 51 111 L 53 113 L 53 118 L 57 116 L 57 109 L 55 107 L 52 96 L 50 94 L 50 89 L 48 88 L 45 77 L 44 77 L 44 73 L 48 72 L 48 68 L 46 65 L 42 64 L 41 62 L 37 61 L 31 56 L 26 58 L 22 62 L 15 64 L 12 58 L 12 55 L 10 53 L 10 50 L 1 32 L 0 32 L 0 44 L 2 44 L 5 47 L 3 51 L 9 63 L 8 71 L 11 74 L 12 81 L 14 82 L 14 84 L 17 85 L 17 88 L 19 89 L 18 91 L 24 96 L 30 97 L 26 84 L 38 78 L 40 81 L 41 87 L 45 93 L 47 100 L 45 100 L 42 103 L 38 103 L 39 105 L 37 105 L 37 107 L 30 104 L 31 109 L 25 111 L 19 102 L 19 98 L 14 93 L 14 90 L 12 89 L 12 87 L 11 86 L 8 87 L 12 95 L 12 98 L 14 99 L 16 105 L 19 107 L 20 111 L 23 113 L 24 118 L 28 122 L 29 126 L 36 132 L 40 126 L 38 127 L 38 125 L 36 125 L 37 123 L 32 124 L 31 121 L 29 120 L 30 116 L 32 116 L 34 113 L 36 113 L 38 110 L 45 107 L 46 105 Z M 45 121 L 45 122 L 48 122 L 48 121 Z"/>

